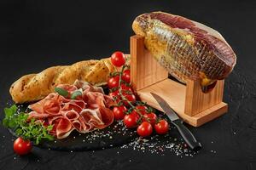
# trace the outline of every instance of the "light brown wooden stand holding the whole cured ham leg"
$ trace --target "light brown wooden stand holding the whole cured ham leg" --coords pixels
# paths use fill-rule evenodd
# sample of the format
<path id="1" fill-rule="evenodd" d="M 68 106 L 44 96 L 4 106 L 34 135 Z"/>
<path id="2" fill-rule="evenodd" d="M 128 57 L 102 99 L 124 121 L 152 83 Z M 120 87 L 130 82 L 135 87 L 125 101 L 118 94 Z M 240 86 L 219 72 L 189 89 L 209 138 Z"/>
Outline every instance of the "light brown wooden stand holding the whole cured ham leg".
<path id="1" fill-rule="evenodd" d="M 140 99 L 148 105 L 162 111 L 150 92 L 159 94 L 184 122 L 194 127 L 228 111 L 228 105 L 222 101 L 224 80 L 204 94 L 199 81 L 188 80 L 183 85 L 168 79 L 168 72 L 144 48 L 144 38 L 137 35 L 131 37 L 131 82 Z"/>

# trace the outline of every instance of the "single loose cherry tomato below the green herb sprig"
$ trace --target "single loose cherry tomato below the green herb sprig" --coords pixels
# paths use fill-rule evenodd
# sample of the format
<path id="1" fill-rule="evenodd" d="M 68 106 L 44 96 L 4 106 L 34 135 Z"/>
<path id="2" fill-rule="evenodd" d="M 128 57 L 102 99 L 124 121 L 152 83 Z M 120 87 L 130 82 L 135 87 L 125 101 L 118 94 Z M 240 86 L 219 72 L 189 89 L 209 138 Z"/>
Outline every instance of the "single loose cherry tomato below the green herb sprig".
<path id="1" fill-rule="evenodd" d="M 26 155 L 32 150 L 32 143 L 19 137 L 15 139 L 14 150 L 20 156 Z"/>

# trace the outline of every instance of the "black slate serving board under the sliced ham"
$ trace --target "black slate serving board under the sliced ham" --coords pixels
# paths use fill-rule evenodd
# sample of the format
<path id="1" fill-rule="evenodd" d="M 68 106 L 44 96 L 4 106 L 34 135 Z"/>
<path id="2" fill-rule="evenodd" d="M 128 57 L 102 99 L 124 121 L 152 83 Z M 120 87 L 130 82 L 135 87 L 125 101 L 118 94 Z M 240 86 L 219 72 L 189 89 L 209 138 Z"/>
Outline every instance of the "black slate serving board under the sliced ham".
<path id="1" fill-rule="evenodd" d="M 26 111 L 27 105 L 18 105 L 18 111 Z M 13 129 L 9 132 L 16 136 Z M 134 129 L 127 129 L 123 122 L 113 122 L 112 125 L 102 130 L 90 133 L 78 133 L 73 131 L 66 139 L 55 139 L 53 141 L 42 141 L 38 147 L 49 150 L 83 151 L 102 150 L 109 147 L 126 144 L 137 137 Z"/>

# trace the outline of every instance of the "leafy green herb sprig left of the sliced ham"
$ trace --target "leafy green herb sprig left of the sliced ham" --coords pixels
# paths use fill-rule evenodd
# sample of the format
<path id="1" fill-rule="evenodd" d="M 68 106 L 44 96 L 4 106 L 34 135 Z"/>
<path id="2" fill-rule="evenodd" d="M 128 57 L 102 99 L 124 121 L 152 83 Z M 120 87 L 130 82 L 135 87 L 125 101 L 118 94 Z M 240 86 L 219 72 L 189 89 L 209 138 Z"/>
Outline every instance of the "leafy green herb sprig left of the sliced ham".
<path id="1" fill-rule="evenodd" d="M 44 127 L 42 122 L 36 122 L 34 118 L 27 122 L 28 114 L 17 113 L 17 106 L 12 105 L 4 109 L 5 117 L 3 126 L 15 129 L 15 133 L 23 139 L 29 139 L 34 144 L 39 144 L 42 139 L 53 140 L 54 137 L 49 134 L 53 126 Z"/>

